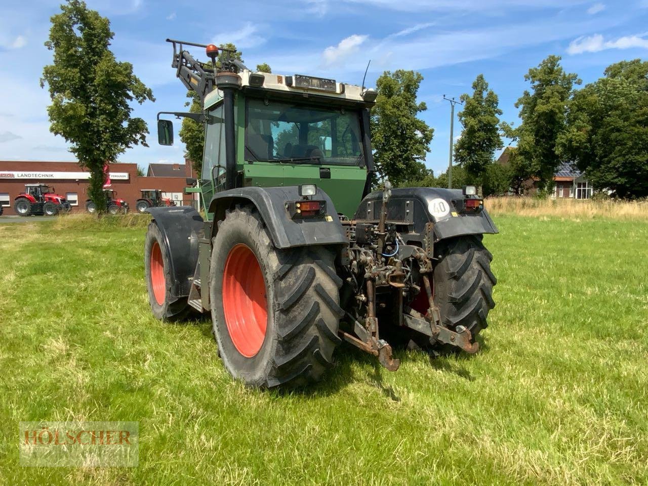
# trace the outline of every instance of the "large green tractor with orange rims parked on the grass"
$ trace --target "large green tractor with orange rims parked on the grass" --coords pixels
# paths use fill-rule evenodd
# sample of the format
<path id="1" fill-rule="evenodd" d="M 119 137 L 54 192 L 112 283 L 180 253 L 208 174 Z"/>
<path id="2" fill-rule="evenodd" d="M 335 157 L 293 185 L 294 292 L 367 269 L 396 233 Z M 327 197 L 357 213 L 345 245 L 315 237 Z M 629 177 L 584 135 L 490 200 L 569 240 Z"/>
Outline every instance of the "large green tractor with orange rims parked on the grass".
<path id="1" fill-rule="evenodd" d="M 211 312 L 224 367 L 262 388 L 317 382 L 343 342 L 390 371 L 400 365 L 392 344 L 476 353 L 496 283 L 481 239 L 498 230 L 475 188 L 385 181 L 372 192 L 374 89 L 253 73 L 225 49 L 168 41 L 176 75 L 203 104 L 165 113 L 205 126 L 202 179 L 187 191 L 206 217 L 147 209 L 154 316 Z M 159 143 L 171 145 L 161 114 Z"/>

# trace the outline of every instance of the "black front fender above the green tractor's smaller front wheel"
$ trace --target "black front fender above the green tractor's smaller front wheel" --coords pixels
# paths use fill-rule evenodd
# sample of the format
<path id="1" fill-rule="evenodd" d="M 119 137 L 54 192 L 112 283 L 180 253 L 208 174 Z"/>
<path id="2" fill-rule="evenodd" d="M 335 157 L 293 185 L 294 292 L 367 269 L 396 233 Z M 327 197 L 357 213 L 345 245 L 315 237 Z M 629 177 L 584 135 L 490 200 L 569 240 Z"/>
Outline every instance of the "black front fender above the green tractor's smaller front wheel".
<path id="1" fill-rule="evenodd" d="M 203 218 L 191 206 L 149 207 L 153 222 L 162 233 L 170 255 L 171 294 L 178 299 L 189 295 L 191 279 L 198 262 L 198 238 L 203 233 Z"/>

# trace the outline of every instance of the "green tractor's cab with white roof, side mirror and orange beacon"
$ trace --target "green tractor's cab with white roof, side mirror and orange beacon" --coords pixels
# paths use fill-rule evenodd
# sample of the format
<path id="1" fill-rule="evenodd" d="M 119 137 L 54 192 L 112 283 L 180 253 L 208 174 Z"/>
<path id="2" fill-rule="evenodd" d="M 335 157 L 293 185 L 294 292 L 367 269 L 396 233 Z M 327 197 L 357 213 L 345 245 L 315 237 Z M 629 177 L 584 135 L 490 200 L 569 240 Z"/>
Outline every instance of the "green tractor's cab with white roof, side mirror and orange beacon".
<path id="1" fill-rule="evenodd" d="M 253 73 L 220 49 L 220 72 L 174 45 L 174 67 L 198 93 L 203 113 L 166 112 L 205 126 L 202 179 L 205 213 L 215 194 L 242 187 L 316 183 L 351 218 L 374 172 L 369 109 L 374 89 L 306 75 Z M 202 46 L 213 56 L 215 46 Z M 161 113 L 160 113 L 161 114 Z M 159 114 L 159 115 L 160 115 Z M 159 119 L 158 139 L 172 144 L 172 122 Z"/>

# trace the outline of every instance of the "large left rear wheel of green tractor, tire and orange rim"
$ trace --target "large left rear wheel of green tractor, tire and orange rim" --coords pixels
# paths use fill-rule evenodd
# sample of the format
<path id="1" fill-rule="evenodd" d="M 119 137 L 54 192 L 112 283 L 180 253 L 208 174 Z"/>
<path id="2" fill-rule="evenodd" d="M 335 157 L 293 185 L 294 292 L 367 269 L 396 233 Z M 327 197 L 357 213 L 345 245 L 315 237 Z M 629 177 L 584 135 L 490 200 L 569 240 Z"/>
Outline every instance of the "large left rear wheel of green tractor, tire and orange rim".
<path id="1" fill-rule="evenodd" d="M 234 378 L 294 388 L 332 366 L 343 314 L 334 258 L 325 246 L 277 249 L 255 209 L 227 211 L 213 240 L 209 292 L 218 351 Z"/>

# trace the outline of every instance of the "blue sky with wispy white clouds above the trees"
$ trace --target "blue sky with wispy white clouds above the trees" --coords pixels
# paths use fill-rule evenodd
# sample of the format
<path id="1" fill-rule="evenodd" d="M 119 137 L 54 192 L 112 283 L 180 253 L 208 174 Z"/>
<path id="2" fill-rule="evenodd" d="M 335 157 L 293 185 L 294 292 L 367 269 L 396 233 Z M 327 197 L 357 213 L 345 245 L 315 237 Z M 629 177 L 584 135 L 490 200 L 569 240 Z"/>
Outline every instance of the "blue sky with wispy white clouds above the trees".
<path id="1" fill-rule="evenodd" d="M 3 1 L 0 6 L 0 160 L 71 161 L 62 137 L 49 132 L 49 95 L 40 87 L 51 52 L 43 43 L 60 2 Z M 620 60 L 648 55 L 648 0 L 279 0 L 237 2 L 89 0 L 111 21 L 117 60 L 133 64 L 155 102 L 133 106 L 152 134 L 150 147 L 119 157 L 146 170 L 149 163 L 183 163 L 176 121 L 174 146 L 157 145 L 158 111 L 183 111 L 186 90 L 170 67 L 166 38 L 233 42 L 248 67 L 266 62 L 273 73 L 335 78 L 374 86 L 386 70 L 415 69 L 424 80 L 419 116 L 434 128 L 426 165 L 448 165 L 450 106 L 483 74 L 500 98 L 502 120 L 518 124 L 516 100 L 529 67 L 550 54 L 583 84 Z M 202 49 L 194 54 L 204 58 Z M 206 58 L 204 59 L 206 60 Z M 460 110 L 460 106 L 457 106 Z M 461 125 L 455 122 L 455 138 Z"/>

